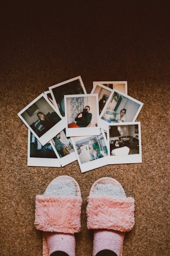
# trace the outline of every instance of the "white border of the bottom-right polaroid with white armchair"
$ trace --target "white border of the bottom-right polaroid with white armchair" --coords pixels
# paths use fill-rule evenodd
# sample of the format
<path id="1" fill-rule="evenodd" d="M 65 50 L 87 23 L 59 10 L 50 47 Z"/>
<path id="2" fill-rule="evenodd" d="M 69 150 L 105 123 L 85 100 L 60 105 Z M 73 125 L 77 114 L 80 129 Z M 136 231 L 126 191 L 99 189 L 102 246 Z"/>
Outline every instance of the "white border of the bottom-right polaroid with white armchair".
<path id="1" fill-rule="evenodd" d="M 135 125 L 138 124 L 139 128 L 139 154 L 134 155 L 120 155 L 120 156 L 110 156 L 110 137 L 109 137 L 109 126 L 118 125 Z M 142 163 L 142 143 L 141 143 L 141 125 L 140 122 L 125 122 L 125 123 L 107 123 L 107 150 L 108 150 L 108 164 L 135 164 Z"/>

